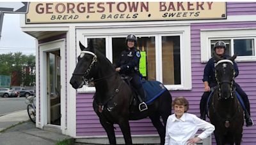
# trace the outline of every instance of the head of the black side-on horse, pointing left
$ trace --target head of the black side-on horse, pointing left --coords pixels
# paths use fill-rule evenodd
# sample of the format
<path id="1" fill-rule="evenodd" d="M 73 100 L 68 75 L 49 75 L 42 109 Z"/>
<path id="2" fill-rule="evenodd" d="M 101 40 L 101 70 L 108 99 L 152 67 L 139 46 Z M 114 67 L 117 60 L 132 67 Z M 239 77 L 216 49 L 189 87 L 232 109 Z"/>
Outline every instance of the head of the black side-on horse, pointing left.
<path id="1" fill-rule="evenodd" d="M 84 47 L 79 41 L 81 54 L 77 57 L 77 65 L 70 79 L 70 84 L 73 88 L 81 88 L 83 85 L 88 85 L 88 81 L 93 79 L 97 67 L 97 55 L 93 48 L 92 41 L 88 47 Z"/>

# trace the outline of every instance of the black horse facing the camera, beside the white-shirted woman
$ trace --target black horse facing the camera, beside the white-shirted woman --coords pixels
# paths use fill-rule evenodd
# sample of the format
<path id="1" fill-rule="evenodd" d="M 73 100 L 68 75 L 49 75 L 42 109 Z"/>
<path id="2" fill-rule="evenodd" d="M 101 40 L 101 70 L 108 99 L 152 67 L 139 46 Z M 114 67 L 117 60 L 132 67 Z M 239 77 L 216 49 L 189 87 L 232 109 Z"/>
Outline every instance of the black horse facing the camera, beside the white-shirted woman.
<path id="1" fill-rule="evenodd" d="M 239 103 L 234 88 L 234 66 L 236 55 L 230 59 L 218 59 L 215 76 L 218 83 L 209 105 L 209 118 L 215 126 L 216 143 L 241 144 L 243 132 L 243 107 Z"/>

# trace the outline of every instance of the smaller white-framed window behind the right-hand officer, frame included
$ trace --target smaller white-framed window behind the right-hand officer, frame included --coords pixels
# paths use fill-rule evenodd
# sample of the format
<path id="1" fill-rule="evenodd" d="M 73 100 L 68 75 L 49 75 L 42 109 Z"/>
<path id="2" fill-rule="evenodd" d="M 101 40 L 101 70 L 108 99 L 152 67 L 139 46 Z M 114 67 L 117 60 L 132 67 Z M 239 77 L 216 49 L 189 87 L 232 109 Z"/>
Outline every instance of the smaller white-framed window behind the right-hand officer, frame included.
<path id="1" fill-rule="evenodd" d="M 201 62 L 211 58 L 214 43 L 219 40 L 226 43 L 228 55 L 237 55 L 236 61 L 256 61 L 255 34 L 256 29 L 201 31 Z"/>

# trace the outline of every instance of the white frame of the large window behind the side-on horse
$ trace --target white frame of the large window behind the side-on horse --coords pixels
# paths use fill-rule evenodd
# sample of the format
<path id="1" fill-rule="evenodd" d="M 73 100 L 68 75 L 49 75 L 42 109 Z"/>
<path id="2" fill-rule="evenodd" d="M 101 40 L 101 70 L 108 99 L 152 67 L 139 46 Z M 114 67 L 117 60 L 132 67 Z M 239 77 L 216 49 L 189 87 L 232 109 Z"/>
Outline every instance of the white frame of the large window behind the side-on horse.
<path id="1" fill-rule="evenodd" d="M 168 30 L 168 31 L 166 31 Z M 136 33 L 134 33 L 136 32 Z M 106 29 L 77 29 L 77 52 L 76 58 L 80 54 L 79 41 L 86 46 L 87 38 L 106 38 L 106 57 L 113 62 L 112 38 L 126 37 L 127 34 L 135 34 L 137 37 L 155 37 L 156 43 L 156 80 L 162 82 L 162 49 L 161 36 L 180 36 L 180 85 L 164 85 L 168 90 L 191 90 L 191 43 L 190 25 L 170 25 L 162 27 L 129 27 L 129 28 L 106 28 Z M 160 39 L 160 40 L 159 40 Z M 159 49 L 157 49 L 159 48 Z M 186 53 L 184 53 L 186 49 Z M 76 60 L 77 61 L 77 60 Z M 185 73 L 186 72 L 186 73 Z M 77 89 L 77 93 L 95 92 L 94 87 L 83 86 Z"/>

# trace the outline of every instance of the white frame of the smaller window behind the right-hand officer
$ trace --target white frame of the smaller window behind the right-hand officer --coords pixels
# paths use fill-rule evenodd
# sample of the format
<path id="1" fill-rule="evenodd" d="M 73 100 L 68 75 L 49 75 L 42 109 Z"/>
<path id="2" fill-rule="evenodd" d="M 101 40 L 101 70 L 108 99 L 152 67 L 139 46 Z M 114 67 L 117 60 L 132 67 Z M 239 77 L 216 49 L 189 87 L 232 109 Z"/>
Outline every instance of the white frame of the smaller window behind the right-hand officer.
<path id="1" fill-rule="evenodd" d="M 234 55 L 234 39 L 253 39 L 254 56 L 237 56 L 237 62 L 256 61 L 256 29 L 214 29 L 200 31 L 201 62 L 206 63 L 211 59 L 211 40 L 230 40 L 230 53 Z"/>

